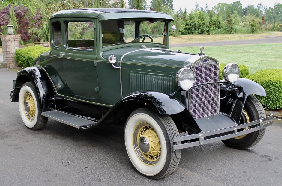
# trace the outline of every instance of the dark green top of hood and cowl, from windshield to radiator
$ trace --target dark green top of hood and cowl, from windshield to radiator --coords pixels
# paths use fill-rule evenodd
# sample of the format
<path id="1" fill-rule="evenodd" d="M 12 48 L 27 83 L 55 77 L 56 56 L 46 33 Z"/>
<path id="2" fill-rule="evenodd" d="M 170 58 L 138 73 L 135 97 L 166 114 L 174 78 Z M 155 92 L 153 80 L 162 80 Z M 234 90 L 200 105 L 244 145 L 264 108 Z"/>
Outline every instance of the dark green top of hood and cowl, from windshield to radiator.
<path id="1" fill-rule="evenodd" d="M 115 55 L 117 61 L 121 60 L 122 55 L 125 55 L 122 63 L 138 63 L 141 65 L 155 66 L 170 66 L 183 67 L 183 63 L 194 56 L 195 54 L 187 54 L 182 52 L 175 52 L 164 48 L 147 48 L 140 50 L 140 47 L 124 47 L 119 49 L 112 49 L 103 52 L 102 56 L 108 59 L 110 55 Z"/>

